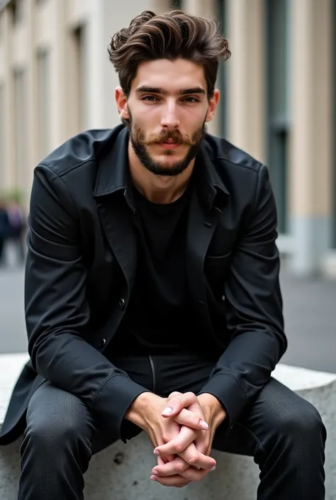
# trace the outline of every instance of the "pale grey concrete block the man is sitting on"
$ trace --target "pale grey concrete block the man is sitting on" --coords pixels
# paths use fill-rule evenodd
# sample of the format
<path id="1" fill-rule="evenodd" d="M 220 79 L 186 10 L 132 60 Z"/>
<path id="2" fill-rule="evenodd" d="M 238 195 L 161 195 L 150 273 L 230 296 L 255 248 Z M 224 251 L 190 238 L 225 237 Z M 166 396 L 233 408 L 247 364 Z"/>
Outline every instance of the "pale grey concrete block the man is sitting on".
<path id="1" fill-rule="evenodd" d="M 27 355 L 0 355 L 0 423 L 16 377 Z M 313 403 L 327 427 L 326 500 L 335 499 L 336 374 L 278 365 L 274 377 Z M 0 448 L 0 500 L 16 500 L 21 440 Z M 155 465 L 150 443 L 142 433 L 127 445 L 115 443 L 91 460 L 85 474 L 85 500 L 252 500 L 256 498 L 258 468 L 252 458 L 214 452 L 217 469 L 200 484 L 183 489 L 150 481 Z"/>

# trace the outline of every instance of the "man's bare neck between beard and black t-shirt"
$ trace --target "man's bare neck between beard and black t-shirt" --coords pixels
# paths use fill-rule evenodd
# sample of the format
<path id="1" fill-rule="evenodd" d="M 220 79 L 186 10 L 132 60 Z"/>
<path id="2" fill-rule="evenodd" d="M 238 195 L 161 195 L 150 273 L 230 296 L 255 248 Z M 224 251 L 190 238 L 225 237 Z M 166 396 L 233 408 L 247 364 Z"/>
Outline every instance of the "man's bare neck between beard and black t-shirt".
<path id="1" fill-rule="evenodd" d="M 156 175 L 147 170 L 128 143 L 128 160 L 133 184 L 148 200 L 157 204 L 168 204 L 177 200 L 188 187 L 195 160 L 179 175 Z"/>

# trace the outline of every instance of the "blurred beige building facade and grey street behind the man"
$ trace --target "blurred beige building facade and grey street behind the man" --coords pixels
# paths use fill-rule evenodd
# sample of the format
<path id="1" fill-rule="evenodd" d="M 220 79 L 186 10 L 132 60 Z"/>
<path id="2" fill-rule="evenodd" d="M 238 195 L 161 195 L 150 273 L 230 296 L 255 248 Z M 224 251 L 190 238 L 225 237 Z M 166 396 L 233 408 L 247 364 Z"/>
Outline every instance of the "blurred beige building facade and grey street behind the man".
<path id="1" fill-rule="evenodd" d="M 119 123 L 110 38 L 138 13 L 172 6 L 220 21 L 232 57 L 209 131 L 269 167 L 283 362 L 336 372 L 336 0 L 0 0 L 0 352 L 26 351 L 33 169 L 80 130 Z"/>

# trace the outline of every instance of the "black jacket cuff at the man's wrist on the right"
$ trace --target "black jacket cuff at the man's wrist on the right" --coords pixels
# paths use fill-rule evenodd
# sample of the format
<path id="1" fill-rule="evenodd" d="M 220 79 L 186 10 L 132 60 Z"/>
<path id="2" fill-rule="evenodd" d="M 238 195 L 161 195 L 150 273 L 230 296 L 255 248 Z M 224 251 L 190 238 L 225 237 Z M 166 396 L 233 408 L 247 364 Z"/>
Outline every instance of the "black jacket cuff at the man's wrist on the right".
<path id="1" fill-rule="evenodd" d="M 198 391 L 198 394 L 204 393 L 212 394 L 223 405 L 226 412 L 225 433 L 229 433 L 249 402 L 240 383 L 230 374 L 218 373 L 208 380 L 201 391 Z"/>

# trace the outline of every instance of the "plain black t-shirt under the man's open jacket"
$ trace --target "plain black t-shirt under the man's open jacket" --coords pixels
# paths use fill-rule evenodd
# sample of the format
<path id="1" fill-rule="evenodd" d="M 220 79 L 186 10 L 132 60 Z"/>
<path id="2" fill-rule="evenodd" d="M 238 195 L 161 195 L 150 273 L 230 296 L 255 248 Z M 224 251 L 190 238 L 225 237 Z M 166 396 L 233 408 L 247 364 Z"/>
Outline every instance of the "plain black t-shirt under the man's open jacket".
<path id="1" fill-rule="evenodd" d="M 135 286 L 113 339 L 117 351 L 147 354 L 183 349 L 197 333 L 186 277 L 186 228 L 192 185 L 170 204 L 135 191 L 139 253 Z M 194 324 L 195 323 L 195 324 Z"/>

